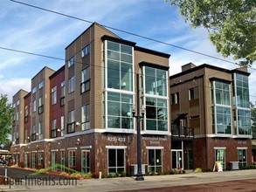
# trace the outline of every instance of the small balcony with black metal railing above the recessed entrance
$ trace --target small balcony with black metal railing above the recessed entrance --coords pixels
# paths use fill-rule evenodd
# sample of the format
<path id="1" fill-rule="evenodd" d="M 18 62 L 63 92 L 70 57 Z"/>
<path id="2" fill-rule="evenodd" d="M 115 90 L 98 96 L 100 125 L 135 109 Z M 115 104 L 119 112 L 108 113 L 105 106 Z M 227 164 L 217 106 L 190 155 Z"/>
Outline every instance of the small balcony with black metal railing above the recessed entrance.
<path id="1" fill-rule="evenodd" d="M 171 136 L 175 140 L 192 140 L 194 139 L 194 128 L 192 127 L 172 127 Z"/>

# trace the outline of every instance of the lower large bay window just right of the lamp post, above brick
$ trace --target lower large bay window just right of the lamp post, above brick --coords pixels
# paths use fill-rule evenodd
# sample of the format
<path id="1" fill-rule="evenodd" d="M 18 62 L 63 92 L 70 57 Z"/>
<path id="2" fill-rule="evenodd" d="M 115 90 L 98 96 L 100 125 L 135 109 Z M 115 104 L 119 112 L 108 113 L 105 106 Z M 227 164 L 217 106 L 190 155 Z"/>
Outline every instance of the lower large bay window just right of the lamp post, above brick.
<path id="1" fill-rule="evenodd" d="M 167 99 L 146 98 L 146 129 L 168 131 Z"/>

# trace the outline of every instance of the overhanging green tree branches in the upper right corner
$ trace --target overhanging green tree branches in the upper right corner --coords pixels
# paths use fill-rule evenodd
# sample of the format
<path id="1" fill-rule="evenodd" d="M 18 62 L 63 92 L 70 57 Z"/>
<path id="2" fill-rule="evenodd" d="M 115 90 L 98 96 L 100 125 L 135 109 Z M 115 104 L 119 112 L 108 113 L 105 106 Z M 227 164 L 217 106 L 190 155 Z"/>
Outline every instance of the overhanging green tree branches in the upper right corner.
<path id="1" fill-rule="evenodd" d="M 234 59 L 240 59 L 239 65 L 253 65 L 256 1 L 170 0 L 170 3 L 179 7 L 179 13 L 192 27 L 207 29 L 211 42 L 224 57 L 233 55 Z"/>

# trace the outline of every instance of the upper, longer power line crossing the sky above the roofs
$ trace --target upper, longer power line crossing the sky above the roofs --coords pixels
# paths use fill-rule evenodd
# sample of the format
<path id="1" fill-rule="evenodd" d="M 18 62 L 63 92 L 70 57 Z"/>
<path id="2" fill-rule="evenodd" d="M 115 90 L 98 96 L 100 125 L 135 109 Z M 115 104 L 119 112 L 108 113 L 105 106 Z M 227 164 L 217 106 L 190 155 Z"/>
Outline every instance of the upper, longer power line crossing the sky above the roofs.
<path id="1" fill-rule="evenodd" d="M 89 23 L 89 24 L 93 24 L 92 21 L 89 21 L 89 20 L 86 20 L 86 19 L 83 19 L 83 18 L 80 18 L 80 17 L 73 17 L 73 16 L 70 16 L 70 15 L 67 15 L 67 14 L 64 14 L 64 13 L 61 13 L 61 12 L 58 12 L 58 11 L 55 11 L 55 10 L 45 9 L 45 8 L 42 8 L 42 7 L 38 7 L 38 6 L 35 6 L 35 5 L 32 5 L 32 4 L 29 4 L 29 3 L 19 2 L 19 1 L 16 1 L 16 0 L 10 0 L 10 1 L 11 1 L 11 2 L 14 2 L 14 3 L 20 3 L 20 4 L 23 4 L 23 5 L 32 7 L 32 8 L 36 8 L 36 9 L 38 9 L 38 10 L 45 10 L 45 11 L 52 12 L 52 13 L 57 14 L 57 15 L 60 15 L 60 16 L 70 17 L 70 18 L 73 18 L 73 19 L 76 19 L 76 20 L 80 20 L 80 21 Z M 172 45 L 172 44 L 169 44 L 169 43 L 166 43 L 166 42 L 157 40 L 157 39 L 155 39 L 155 38 L 145 37 L 145 36 L 142 36 L 142 35 L 133 33 L 133 32 L 124 31 L 124 30 L 120 30 L 120 29 L 117 29 L 117 28 L 114 28 L 114 27 L 111 27 L 111 26 L 107 26 L 107 25 L 105 25 L 105 24 L 100 24 L 100 25 L 103 26 L 103 27 L 105 27 L 105 28 L 107 28 L 107 29 L 111 29 L 111 30 L 114 30 L 114 31 L 120 31 L 120 32 L 129 34 L 129 35 L 138 37 L 138 38 L 144 38 L 144 39 L 147 39 L 147 40 L 150 40 L 150 41 L 154 41 L 154 42 L 159 43 L 159 44 L 169 45 L 169 46 L 172 46 L 172 47 L 175 47 L 175 48 L 177 48 L 177 49 L 184 50 L 184 51 L 190 51 L 190 52 L 193 52 L 193 53 L 196 53 L 196 54 L 199 54 L 199 55 L 203 55 L 204 57 L 218 59 L 218 60 L 220 60 L 220 61 L 224 61 L 224 62 L 226 62 L 226 63 L 230 63 L 230 64 L 233 64 L 233 65 L 239 65 L 238 63 L 235 63 L 235 62 L 232 62 L 232 61 L 228 61 L 228 60 L 225 60 L 225 59 L 223 59 L 223 58 L 217 58 L 217 57 L 208 55 L 208 54 L 203 53 L 203 52 L 193 51 L 193 50 L 190 50 L 190 49 L 187 49 L 187 48 L 178 46 L 178 45 Z M 253 69 L 253 68 L 252 68 L 252 69 Z M 254 69 L 254 70 L 256 70 L 256 69 Z"/>

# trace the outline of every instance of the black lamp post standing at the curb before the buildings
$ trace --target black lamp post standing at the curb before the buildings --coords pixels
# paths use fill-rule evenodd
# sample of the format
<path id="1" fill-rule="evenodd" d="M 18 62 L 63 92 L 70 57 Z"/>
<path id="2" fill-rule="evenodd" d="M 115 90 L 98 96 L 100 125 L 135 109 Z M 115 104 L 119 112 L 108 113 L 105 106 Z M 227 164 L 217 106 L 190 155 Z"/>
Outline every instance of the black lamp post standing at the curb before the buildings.
<path id="1" fill-rule="evenodd" d="M 142 147 L 141 147 L 141 119 L 144 118 L 144 109 L 140 108 L 140 82 L 139 82 L 139 74 L 136 74 L 136 95 L 137 95 L 137 115 L 135 115 L 135 108 L 133 109 L 133 117 L 137 119 L 137 175 L 136 181 L 144 181 L 144 177 L 142 175 Z"/>

